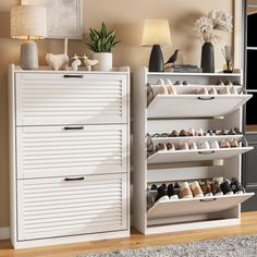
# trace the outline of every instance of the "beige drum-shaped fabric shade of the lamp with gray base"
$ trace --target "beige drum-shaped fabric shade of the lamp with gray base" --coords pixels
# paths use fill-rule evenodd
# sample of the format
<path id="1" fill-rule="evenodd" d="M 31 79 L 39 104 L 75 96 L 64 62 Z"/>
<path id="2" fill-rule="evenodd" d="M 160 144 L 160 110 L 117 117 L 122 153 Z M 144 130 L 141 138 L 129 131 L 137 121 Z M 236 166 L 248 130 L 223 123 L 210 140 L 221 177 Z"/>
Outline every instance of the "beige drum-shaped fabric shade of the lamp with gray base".
<path id="1" fill-rule="evenodd" d="M 11 37 L 42 39 L 47 36 L 47 9 L 38 5 L 16 5 L 11 10 Z"/>

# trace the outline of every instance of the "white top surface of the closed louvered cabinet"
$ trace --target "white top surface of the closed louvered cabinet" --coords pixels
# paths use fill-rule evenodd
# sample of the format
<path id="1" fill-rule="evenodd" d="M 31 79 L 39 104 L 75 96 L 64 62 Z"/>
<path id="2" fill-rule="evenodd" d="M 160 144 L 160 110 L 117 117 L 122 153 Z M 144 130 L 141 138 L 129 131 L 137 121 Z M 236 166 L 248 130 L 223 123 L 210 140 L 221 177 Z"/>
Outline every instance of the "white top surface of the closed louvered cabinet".
<path id="1" fill-rule="evenodd" d="M 15 73 L 53 73 L 53 74 L 63 74 L 63 73 L 75 73 L 75 74 L 126 74 L 130 72 L 128 66 L 121 66 L 121 68 L 113 68 L 112 71 L 109 72 L 101 72 L 101 71 L 86 71 L 86 70 L 78 70 L 78 71 L 73 71 L 73 70 L 60 70 L 60 71 L 54 71 L 51 70 L 49 66 L 39 66 L 38 70 L 23 70 L 19 65 L 11 64 L 10 68 L 13 70 Z"/>

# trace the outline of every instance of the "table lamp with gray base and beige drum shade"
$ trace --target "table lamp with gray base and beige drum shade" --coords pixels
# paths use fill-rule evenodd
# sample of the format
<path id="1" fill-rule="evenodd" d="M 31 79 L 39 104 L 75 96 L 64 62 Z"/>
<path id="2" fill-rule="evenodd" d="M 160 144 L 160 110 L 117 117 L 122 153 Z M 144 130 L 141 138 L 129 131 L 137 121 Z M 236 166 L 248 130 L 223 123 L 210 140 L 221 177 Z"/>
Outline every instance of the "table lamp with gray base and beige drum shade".
<path id="1" fill-rule="evenodd" d="M 16 5 L 11 9 L 11 37 L 25 39 L 21 45 L 20 65 L 38 69 L 37 44 L 33 39 L 47 36 L 47 9 L 38 5 Z"/>

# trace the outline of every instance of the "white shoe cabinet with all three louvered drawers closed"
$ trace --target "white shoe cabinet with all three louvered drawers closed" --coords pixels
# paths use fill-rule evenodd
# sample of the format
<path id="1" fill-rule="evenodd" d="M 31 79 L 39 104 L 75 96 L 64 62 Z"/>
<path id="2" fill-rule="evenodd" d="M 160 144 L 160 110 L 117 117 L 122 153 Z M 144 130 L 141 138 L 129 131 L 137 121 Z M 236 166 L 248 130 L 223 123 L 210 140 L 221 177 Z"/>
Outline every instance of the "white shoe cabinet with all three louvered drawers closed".
<path id="1" fill-rule="evenodd" d="M 130 70 L 10 66 L 15 248 L 130 235 Z"/>

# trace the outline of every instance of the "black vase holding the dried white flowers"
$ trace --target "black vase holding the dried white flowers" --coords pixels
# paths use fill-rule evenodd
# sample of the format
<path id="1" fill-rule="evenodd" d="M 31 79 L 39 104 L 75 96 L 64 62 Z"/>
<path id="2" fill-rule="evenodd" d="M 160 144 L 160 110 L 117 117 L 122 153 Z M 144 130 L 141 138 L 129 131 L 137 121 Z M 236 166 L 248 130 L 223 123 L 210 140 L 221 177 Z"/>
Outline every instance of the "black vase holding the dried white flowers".
<path id="1" fill-rule="evenodd" d="M 211 42 L 205 42 L 201 47 L 200 66 L 205 73 L 215 73 L 215 47 Z"/>

